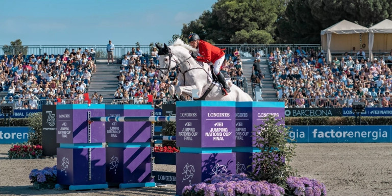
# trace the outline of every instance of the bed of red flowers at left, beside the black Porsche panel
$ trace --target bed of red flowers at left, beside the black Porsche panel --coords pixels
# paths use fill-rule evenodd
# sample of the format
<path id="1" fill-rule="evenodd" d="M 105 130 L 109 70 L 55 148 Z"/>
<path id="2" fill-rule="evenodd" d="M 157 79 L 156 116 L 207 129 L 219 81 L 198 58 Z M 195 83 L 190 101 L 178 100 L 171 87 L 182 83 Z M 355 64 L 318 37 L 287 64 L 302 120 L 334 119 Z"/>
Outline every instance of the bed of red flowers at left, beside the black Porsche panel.
<path id="1" fill-rule="evenodd" d="M 35 159 L 40 155 L 42 155 L 41 145 L 12 144 L 8 151 L 8 158 L 10 159 Z"/>

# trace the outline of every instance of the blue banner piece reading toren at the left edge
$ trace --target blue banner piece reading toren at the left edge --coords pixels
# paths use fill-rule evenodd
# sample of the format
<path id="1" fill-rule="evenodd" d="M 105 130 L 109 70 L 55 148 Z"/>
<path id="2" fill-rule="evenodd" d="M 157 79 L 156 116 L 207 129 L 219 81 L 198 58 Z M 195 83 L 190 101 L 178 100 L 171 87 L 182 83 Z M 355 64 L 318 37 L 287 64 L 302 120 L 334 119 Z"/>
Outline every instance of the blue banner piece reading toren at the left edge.
<path id="1" fill-rule="evenodd" d="M 0 127 L 0 143 L 23 143 L 29 139 L 30 127 Z"/>

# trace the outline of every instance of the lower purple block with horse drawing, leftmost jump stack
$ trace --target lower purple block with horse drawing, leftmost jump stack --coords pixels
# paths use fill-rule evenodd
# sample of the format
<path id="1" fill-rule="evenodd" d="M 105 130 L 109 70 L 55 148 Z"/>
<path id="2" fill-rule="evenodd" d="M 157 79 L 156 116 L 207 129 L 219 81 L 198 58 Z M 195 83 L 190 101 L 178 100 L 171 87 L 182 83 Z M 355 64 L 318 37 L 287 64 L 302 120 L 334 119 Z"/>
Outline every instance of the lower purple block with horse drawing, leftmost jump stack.
<path id="1" fill-rule="evenodd" d="M 89 170 L 91 171 L 90 176 Z M 91 148 L 90 168 L 88 160 L 88 149 L 57 148 L 58 184 L 105 184 L 105 175 L 105 148 Z"/>

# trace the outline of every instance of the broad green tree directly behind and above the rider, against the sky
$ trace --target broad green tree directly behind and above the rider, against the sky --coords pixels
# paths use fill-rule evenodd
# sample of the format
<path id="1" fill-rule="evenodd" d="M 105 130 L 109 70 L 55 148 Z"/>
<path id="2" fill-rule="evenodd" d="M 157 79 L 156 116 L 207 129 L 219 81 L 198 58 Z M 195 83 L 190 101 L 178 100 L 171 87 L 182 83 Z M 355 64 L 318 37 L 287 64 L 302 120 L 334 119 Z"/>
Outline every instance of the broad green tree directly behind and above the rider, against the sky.
<path id="1" fill-rule="evenodd" d="M 182 36 L 197 33 L 216 44 L 269 44 L 274 42 L 276 21 L 285 11 L 287 0 L 220 0 L 212 11 L 184 24 Z"/>

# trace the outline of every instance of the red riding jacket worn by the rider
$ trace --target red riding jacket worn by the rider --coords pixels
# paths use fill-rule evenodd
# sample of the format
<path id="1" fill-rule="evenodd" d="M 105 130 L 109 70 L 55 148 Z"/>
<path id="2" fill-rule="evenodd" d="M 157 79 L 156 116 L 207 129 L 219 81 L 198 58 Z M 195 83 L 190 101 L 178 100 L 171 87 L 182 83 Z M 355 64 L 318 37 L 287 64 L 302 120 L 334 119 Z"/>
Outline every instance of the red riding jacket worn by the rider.
<path id="1" fill-rule="evenodd" d="M 196 60 L 206 62 L 206 63 L 210 61 L 214 63 L 220 57 L 225 55 L 225 53 L 222 50 L 220 50 L 220 48 L 204 40 L 199 41 L 199 53 L 202 56 L 198 56 Z"/>

